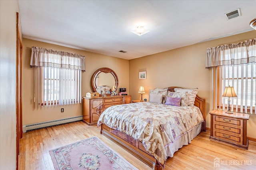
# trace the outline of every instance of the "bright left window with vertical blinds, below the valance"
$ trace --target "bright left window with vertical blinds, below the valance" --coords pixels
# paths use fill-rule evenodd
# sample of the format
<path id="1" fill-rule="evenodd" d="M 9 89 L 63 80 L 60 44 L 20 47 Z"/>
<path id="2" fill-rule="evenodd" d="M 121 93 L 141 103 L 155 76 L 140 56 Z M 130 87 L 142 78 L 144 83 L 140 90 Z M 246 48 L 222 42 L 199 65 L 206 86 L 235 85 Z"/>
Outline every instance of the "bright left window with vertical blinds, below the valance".
<path id="1" fill-rule="evenodd" d="M 81 96 L 81 70 L 42 67 L 41 105 L 66 105 L 79 103 Z"/>

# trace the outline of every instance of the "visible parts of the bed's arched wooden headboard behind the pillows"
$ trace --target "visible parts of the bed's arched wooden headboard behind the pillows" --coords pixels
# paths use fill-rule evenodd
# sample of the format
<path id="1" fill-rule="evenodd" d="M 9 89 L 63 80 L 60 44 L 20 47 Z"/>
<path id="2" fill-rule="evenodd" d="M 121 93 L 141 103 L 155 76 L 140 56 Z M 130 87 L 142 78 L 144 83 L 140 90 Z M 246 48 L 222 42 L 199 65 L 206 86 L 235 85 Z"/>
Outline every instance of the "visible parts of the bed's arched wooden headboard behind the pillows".
<path id="1" fill-rule="evenodd" d="M 174 92 L 174 88 L 182 88 L 182 87 L 174 87 L 174 86 L 168 87 L 168 91 Z M 204 131 L 204 132 L 206 130 L 206 106 L 205 106 L 205 104 L 206 104 L 205 99 L 196 95 L 194 106 L 197 106 L 200 109 L 200 111 L 202 112 L 202 115 L 204 117 L 204 122 L 202 123 L 202 129 L 201 129 L 201 131 Z"/>

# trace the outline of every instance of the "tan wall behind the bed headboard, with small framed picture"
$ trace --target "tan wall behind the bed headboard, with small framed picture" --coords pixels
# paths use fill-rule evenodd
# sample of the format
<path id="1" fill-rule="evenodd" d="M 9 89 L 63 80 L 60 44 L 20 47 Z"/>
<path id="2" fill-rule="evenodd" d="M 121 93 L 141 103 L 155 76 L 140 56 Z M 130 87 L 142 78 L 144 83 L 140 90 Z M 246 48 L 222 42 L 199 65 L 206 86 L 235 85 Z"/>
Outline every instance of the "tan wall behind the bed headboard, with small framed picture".
<path id="1" fill-rule="evenodd" d="M 144 86 L 148 99 L 149 90 L 180 86 L 199 88 L 198 95 L 206 99 L 206 127 L 210 127 L 211 105 L 211 70 L 205 69 L 206 49 L 217 45 L 237 43 L 256 37 L 256 31 L 249 31 L 230 37 L 224 37 L 130 60 L 130 94 L 132 100 L 140 99 L 138 90 Z M 138 72 L 146 71 L 146 80 L 139 80 Z M 248 137 L 256 138 L 256 115 L 250 115 L 247 125 Z"/>

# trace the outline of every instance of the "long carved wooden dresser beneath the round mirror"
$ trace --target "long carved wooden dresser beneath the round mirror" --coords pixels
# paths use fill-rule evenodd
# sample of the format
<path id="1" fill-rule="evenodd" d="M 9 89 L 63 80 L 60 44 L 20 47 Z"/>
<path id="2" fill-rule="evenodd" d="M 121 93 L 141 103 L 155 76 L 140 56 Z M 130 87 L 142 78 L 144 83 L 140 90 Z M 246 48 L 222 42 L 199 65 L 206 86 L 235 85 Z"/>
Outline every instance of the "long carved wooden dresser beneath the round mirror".
<path id="1" fill-rule="evenodd" d="M 83 121 L 88 125 L 98 122 L 100 114 L 108 107 L 131 103 L 131 96 L 83 97 Z"/>

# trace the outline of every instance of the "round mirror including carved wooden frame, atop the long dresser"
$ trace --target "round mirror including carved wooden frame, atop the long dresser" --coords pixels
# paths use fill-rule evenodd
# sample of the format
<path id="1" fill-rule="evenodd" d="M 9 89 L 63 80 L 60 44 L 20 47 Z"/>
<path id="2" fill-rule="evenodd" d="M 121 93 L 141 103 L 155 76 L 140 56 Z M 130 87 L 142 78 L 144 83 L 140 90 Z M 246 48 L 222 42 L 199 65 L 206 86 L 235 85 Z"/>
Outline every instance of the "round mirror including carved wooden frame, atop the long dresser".
<path id="1" fill-rule="evenodd" d="M 118 88 L 118 77 L 114 70 L 103 67 L 94 72 L 92 76 L 92 88 L 94 92 L 108 94 L 113 90 L 113 87 L 116 92 Z"/>

